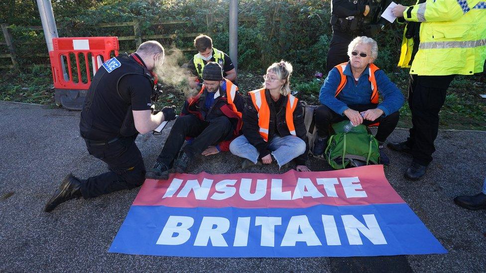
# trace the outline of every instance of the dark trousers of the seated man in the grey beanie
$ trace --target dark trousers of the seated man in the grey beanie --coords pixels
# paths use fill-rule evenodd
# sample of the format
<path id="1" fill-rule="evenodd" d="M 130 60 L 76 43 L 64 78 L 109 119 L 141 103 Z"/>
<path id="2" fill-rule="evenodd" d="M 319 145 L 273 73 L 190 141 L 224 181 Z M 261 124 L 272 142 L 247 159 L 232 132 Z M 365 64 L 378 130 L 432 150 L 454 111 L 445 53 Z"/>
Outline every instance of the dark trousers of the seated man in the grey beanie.
<path id="1" fill-rule="evenodd" d="M 180 116 L 172 126 L 157 161 L 170 167 L 186 136 L 194 137 L 194 140 L 184 147 L 184 152 L 189 158 L 195 159 L 209 146 L 227 139 L 232 130 L 230 119 L 226 116 L 217 117 L 210 122 L 191 114 Z"/>

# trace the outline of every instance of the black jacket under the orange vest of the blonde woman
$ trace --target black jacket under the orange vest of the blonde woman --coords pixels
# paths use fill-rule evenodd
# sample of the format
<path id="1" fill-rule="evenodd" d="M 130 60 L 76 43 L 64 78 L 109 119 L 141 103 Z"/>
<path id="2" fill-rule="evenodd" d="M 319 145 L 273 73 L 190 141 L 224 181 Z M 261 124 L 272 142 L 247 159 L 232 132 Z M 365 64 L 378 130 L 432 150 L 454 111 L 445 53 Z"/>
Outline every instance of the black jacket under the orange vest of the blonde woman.
<path id="1" fill-rule="evenodd" d="M 266 103 L 270 105 L 270 99 L 272 99 L 270 91 L 265 90 L 265 98 Z M 270 123 L 268 126 L 268 140 L 271 140 L 275 133 L 282 137 L 290 135 L 290 131 L 287 127 L 287 121 L 285 120 L 287 100 L 287 96 L 283 96 L 283 101 L 278 107 L 278 110 L 274 110 L 273 107 L 269 107 Z M 307 154 L 309 152 L 309 145 L 307 144 L 307 131 L 304 125 L 304 115 L 302 113 L 302 104 L 300 100 L 295 108 L 293 116 L 295 134 L 306 143 L 305 152 L 295 158 L 295 162 L 297 165 L 305 165 L 308 158 Z M 253 145 L 256 150 L 258 150 L 258 153 L 260 154 L 259 158 L 261 159 L 262 157 L 270 154 L 271 151 L 267 149 L 268 142 L 261 137 L 259 128 L 258 112 L 253 105 L 251 97 L 248 95 L 246 98 L 246 107 L 243 110 L 243 135 L 249 141 L 249 143 Z"/>

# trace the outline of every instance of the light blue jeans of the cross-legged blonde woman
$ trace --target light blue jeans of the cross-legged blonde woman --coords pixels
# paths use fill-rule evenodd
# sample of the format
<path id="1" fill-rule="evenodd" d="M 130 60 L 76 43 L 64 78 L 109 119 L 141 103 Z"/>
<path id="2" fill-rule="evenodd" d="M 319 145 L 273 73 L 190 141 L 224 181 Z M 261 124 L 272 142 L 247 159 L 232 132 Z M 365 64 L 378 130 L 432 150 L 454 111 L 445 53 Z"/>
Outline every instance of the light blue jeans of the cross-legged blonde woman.
<path id="1" fill-rule="evenodd" d="M 296 136 L 274 136 L 269 142 L 267 149 L 272 151 L 273 158 L 277 161 L 278 167 L 290 162 L 292 159 L 305 152 L 305 142 Z M 248 140 L 241 135 L 235 138 L 230 144 L 232 154 L 246 158 L 257 163 L 259 153 Z"/>

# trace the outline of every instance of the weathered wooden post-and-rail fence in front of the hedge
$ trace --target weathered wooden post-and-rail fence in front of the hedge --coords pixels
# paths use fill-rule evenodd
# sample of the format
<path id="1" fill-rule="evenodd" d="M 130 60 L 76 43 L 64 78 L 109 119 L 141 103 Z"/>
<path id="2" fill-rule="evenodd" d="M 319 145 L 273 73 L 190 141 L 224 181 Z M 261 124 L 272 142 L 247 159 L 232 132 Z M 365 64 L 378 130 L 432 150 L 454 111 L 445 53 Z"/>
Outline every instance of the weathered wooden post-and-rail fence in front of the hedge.
<path id="1" fill-rule="evenodd" d="M 213 17 L 212 13 L 206 14 L 206 31 L 208 35 L 213 34 L 213 28 L 214 28 L 214 23 L 215 22 L 223 22 L 226 20 L 225 18 L 218 18 L 218 17 Z M 240 17 L 239 18 L 240 22 L 254 22 L 256 21 L 255 17 Z M 280 21 L 279 18 L 276 18 L 275 21 Z M 184 21 L 184 20 L 164 20 L 164 21 L 151 21 L 151 25 L 173 25 L 173 24 L 187 24 L 190 23 L 190 21 Z M 106 28 L 106 27 L 117 27 L 117 26 L 132 26 L 133 27 L 133 35 L 131 36 L 119 36 L 118 40 L 120 41 L 134 41 L 135 42 L 135 47 L 138 47 L 141 43 L 142 40 L 149 40 L 149 39 L 175 39 L 177 37 L 196 37 L 197 35 L 200 34 L 200 32 L 191 32 L 191 33 L 171 33 L 171 34 L 158 34 L 158 35 L 143 35 L 142 30 L 140 28 L 140 22 L 137 20 L 133 20 L 130 22 L 116 22 L 116 23 L 100 23 L 95 25 L 96 27 L 100 28 Z M 32 30 L 42 30 L 42 26 L 28 26 L 27 28 L 32 29 Z M 10 34 L 10 31 L 8 30 L 8 26 L 6 24 L 1 24 L 1 29 L 3 32 L 3 37 L 5 39 L 4 42 L 0 41 L 0 46 L 6 45 L 8 47 L 8 54 L 0 54 L 0 59 L 3 58 L 10 58 L 11 59 L 11 65 L 0 65 L 1 68 L 18 68 L 18 56 L 16 56 L 15 52 L 15 45 L 24 45 L 24 44 L 40 44 L 41 42 L 33 42 L 33 41 L 25 41 L 25 42 L 20 42 L 17 41 L 15 42 L 14 39 L 12 38 L 12 35 Z M 196 49 L 194 48 L 182 48 L 182 51 L 195 51 Z M 130 49 L 128 51 L 135 51 L 134 49 Z M 30 56 L 35 56 L 35 57 L 49 57 L 48 53 L 33 53 L 30 54 Z M 34 65 L 29 65 L 29 66 L 34 66 Z M 44 67 L 50 67 L 50 65 L 35 65 L 35 66 L 44 66 Z"/>

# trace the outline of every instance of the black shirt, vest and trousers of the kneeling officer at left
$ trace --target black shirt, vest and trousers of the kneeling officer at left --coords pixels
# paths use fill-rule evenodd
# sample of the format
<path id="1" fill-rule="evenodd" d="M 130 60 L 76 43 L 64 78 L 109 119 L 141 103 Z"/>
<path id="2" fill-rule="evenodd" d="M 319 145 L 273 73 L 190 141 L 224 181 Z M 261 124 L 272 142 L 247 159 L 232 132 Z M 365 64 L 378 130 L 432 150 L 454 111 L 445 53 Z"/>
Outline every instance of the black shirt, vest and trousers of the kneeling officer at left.
<path id="1" fill-rule="evenodd" d="M 88 152 L 107 163 L 110 171 L 81 180 L 85 199 L 134 188 L 145 180 L 132 110 L 150 109 L 153 81 L 133 55 L 120 55 L 100 67 L 86 96 L 80 133 Z"/>

